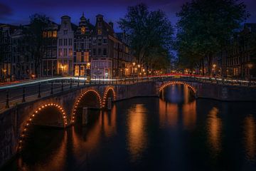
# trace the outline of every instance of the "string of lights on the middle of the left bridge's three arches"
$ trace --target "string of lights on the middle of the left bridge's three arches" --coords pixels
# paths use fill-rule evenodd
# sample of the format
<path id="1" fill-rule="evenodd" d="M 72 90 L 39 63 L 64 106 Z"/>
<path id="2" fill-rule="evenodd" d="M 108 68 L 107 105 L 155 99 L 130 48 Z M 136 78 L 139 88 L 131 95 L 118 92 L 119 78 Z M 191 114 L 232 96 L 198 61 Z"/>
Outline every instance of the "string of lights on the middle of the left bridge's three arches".
<path id="1" fill-rule="evenodd" d="M 86 95 L 88 95 L 89 93 L 92 93 L 93 95 L 96 96 L 97 102 L 98 102 L 97 107 L 102 108 L 102 99 L 100 98 L 100 93 L 98 93 L 97 90 L 94 90 L 94 89 L 86 90 L 84 93 L 80 94 L 78 100 L 76 100 L 75 102 L 75 106 L 73 108 L 73 112 L 71 116 L 72 118 L 70 119 L 71 123 L 75 123 L 75 114 L 77 113 L 78 107 L 82 103 Z"/>

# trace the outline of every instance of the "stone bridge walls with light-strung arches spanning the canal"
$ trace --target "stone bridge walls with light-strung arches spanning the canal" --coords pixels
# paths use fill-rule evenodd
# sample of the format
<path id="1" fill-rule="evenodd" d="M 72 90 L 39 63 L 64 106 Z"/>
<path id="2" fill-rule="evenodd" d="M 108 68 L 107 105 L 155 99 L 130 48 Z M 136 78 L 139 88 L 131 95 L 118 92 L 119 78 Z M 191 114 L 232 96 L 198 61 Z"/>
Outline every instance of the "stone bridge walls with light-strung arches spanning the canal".
<path id="1" fill-rule="evenodd" d="M 188 86 L 196 98 L 216 100 L 256 99 L 255 88 L 202 83 L 182 79 L 148 80 L 112 85 L 86 85 L 20 103 L 0 114 L 0 166 L 21 150 L 30 125 L 66 128 L 73 125 L 82 107 L 104 109 L 107 99 L 125 100 L 139 96 L 159 96 L 166 86 Z"/>

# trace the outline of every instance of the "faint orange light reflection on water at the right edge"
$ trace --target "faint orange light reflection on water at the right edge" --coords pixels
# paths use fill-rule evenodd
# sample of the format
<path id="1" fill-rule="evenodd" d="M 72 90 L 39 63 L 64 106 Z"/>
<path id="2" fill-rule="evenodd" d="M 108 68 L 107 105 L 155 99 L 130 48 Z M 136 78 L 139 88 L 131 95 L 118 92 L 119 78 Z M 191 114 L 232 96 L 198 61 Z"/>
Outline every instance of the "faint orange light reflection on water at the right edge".
<path id="1" fill-rule="evenodd" d="M 249 160 L 255 160 L 256 122 L 252 115 L 245 118 L 245 150 Z"/>

